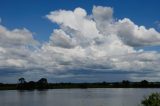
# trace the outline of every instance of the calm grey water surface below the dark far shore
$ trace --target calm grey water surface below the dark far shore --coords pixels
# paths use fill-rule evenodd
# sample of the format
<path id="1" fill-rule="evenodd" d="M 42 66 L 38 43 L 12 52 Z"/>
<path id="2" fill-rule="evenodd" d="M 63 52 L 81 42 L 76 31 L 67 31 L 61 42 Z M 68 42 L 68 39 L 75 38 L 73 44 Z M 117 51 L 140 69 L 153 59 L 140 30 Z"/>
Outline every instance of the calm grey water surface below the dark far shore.
<path id="1" fill-rule="evenodd" d="M 138 106 L 160 89 L 105 88 L 0 91 L 0 106 Z"/>

